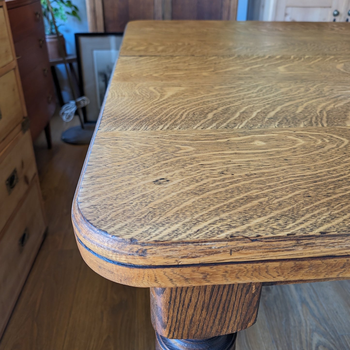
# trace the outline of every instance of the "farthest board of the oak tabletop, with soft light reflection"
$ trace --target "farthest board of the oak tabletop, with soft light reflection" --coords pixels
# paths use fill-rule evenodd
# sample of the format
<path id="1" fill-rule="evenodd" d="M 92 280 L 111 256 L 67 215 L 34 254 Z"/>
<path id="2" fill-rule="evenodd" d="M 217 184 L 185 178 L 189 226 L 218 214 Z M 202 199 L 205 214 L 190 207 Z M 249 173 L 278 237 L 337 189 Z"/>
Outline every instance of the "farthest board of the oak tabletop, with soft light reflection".
<path id="1" fill-rule="evenodd" d="M 135 21 L 121 56 L 348 57 L 348 23 Z"/>

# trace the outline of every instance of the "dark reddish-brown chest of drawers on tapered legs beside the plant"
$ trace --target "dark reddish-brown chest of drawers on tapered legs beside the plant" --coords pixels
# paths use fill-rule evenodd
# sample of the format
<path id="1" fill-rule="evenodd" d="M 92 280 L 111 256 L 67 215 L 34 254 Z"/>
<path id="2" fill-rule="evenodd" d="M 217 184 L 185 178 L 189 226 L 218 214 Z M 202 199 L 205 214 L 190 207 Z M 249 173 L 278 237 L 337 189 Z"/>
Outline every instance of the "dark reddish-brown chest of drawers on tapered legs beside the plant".
<path id="1" fill-rule="evenodd" d="M 24 98 L 35 140 L 56 108 L 40 0 L 6 1 Z M 50 145 L 50 140 L 48 140 Z M 50 147 L 50 146 L 49 146 Z"/>

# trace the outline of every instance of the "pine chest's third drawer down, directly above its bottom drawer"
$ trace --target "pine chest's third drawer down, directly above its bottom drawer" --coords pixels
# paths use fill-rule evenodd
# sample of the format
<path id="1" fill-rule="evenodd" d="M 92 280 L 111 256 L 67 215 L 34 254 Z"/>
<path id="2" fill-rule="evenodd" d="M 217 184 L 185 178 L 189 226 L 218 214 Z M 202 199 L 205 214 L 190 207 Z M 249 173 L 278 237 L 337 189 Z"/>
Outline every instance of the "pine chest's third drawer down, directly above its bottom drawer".
<path id="1" fill-rule="evenodd" d="M 32 139 L 19 133 L 0 154 L 0 231 L 36 173 Z"/>

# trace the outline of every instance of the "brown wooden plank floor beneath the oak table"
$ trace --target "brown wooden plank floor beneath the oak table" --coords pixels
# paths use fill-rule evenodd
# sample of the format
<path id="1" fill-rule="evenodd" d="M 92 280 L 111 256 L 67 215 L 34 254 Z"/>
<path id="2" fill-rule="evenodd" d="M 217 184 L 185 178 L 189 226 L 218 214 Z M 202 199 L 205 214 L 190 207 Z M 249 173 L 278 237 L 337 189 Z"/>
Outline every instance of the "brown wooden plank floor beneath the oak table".
<path id="1" fill-rule="evenodd" d="M 88 147 L 61 142 L 58 117 L 51 127 L 52 150 L 43 135 L 35 142 L 48 236 L 0 350 L 153 350 L 148 289 L 106 280 L 80 256 L 70 210 Z M 263 287 L 258 321 L 236 349 L 349 350 L 350 281 Z"/>

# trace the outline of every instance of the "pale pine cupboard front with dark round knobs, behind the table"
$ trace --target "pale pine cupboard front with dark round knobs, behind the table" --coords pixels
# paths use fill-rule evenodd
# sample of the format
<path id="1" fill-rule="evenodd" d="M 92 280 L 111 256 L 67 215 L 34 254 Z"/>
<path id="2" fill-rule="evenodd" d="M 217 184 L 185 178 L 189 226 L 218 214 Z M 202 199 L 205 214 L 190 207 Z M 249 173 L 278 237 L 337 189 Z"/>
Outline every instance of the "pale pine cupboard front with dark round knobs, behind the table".
<path id="1" fill-rule="evenodd" d="M 287 22 L 343 22 L 347 0 L 276 0 L 269 20 Z M 274 6 L 272 6 L 274 7 Z M 273 14 L 274 12 L 274 14 Z"/>

